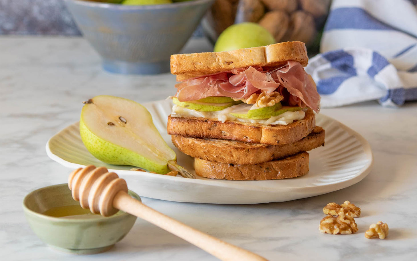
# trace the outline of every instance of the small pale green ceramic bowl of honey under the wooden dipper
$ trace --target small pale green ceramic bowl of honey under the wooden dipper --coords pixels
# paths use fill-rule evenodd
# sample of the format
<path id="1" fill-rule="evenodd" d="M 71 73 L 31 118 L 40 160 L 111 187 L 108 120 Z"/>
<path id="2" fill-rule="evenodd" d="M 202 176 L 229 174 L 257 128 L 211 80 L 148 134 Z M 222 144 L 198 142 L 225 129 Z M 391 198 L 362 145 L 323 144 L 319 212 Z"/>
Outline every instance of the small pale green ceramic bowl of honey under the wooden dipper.
<path id="1" fill-rule="evenodd" d="M 133 191 L 129 191 L 129 195 L 141 200 Z M 42 241 L 53 248 L 76 254 L 108 250 L 126 236 L 136 221 L 136 216 L 123 211 L 110 217 L 88 219 L 57 218 L 42 214 L 50 208 L 78 204 L 65 183 L 32 191 L 23 199 L 23 210 L 30 227 Z"/>

